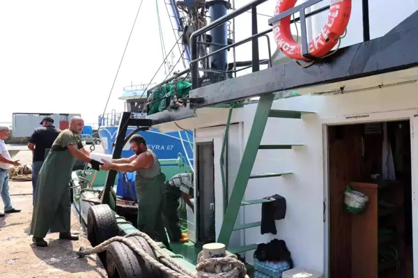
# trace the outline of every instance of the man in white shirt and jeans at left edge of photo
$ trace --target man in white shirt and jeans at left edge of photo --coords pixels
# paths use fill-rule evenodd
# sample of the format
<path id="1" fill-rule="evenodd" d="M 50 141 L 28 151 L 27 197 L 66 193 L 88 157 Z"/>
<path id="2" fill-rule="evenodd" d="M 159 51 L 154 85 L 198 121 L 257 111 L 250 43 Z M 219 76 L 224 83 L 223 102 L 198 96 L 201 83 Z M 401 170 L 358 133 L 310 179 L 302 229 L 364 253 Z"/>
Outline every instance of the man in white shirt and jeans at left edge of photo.
<path id="1" fill-rule="evenodd" d="M 4 213 L 20 213 L 20 210 L 13 208 L 10 201 L 9 185 L 8 185 L 8 169 L 10 165 L 20 166 L 19 160 L 11 160 L 10 153 L 4 144 L 10 136 L 10 130 L 6 126 L 0 126 L 0 194 L 3 200 Z M 4 217 L 4 213 L 0 213 L 0 217 Z"/>

